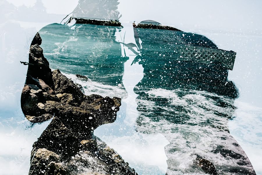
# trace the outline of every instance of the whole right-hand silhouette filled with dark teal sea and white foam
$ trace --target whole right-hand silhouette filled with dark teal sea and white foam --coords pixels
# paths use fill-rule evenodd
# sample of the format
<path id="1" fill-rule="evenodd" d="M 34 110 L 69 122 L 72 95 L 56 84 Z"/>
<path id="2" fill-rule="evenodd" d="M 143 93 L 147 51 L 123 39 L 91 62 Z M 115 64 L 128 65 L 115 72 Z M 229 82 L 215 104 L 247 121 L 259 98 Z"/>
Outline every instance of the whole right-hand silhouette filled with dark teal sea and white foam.
<path id="1" fill-rule="evenodd" d="M 210 53 L 217 46 L 205 36 L 157 22 L 134 25 L 134 33 L 136 41 L 141 40 L 137 61 L 144 68 L 135 89 L 141 113 L 138 128 L 160 132 L 170 142 L 165 147 L 167 174 L 255 174 L 229 133 L 228 119 L 235 116 L 233 103 L 239 96 L 228 80 L 232 59 L 226 67 L 227 55 L 222 62 L 215 60 L 217 55 Z M 192 47 L 195 53 L 186 59 L 183 52 Z M 210 51 L 197 53 L 196 48 Z"/>

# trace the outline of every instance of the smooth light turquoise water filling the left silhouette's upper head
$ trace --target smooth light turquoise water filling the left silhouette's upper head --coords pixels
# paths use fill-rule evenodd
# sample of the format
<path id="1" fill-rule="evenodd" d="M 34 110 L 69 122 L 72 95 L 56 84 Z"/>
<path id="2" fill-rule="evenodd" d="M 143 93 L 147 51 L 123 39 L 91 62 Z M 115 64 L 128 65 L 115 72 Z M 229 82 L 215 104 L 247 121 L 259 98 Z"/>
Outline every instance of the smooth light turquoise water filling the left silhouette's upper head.
<path id="1" fill-rule="evenodd" d="M 40 30 L 43 37 L 41 47 L 51 69 L 118 85 L 121 84 L 125 60 L 121 58 L 120 43 L 115 41 L 116 29 L 78 24 L 75 30 L 71 30 L 67 25 L 50 24 Z"/>

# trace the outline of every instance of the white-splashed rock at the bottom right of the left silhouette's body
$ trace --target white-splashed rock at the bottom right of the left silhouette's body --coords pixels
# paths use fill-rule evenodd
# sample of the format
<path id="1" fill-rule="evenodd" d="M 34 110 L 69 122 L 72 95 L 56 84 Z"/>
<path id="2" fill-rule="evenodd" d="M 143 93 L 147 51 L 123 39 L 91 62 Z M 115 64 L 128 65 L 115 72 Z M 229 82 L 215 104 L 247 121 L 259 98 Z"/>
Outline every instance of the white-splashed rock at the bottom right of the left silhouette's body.
<path id="1" fill-rule="evenodd" d="M 134 169 L 128 166 L 128 163 L 121 158 L 113 149 L 109 148 L 104 142 L 94 136 L 92 140 L 81 141 L 83 144 L 96 145 L 96 150 L 85 150 L 88 147 L 83 147 L 68 164 L 76 164 L 78 174 L 125 174 L 137 175 Z"/>

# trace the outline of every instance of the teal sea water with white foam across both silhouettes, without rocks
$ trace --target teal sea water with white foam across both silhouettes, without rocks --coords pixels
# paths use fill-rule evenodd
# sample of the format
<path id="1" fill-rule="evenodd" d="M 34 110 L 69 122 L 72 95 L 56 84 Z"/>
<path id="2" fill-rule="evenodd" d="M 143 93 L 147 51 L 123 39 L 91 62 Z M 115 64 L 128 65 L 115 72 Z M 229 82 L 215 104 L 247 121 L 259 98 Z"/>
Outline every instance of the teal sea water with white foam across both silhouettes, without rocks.
<path id="1" fill-rule="evenodd" d="M 128 93 L 122 77 L 128 58 L 123 57 L 123 45 L 116 42 L 120 30 L 91 24 L 77 24 L 72 28 L 50 24 L 39 33 L 51 69 L 60 69 L 81 84 L 87 95 L 97 93 L 125 99 Z M 220 174 L 252 172 L 247 156 L 229 133 L 228 119 L 236 116 L 234 101 L 238 89 L 228 81 L 228 71 L 219 63 L 180 60 L 178 51 L 170 51 L 172 45 L 183 47 L 184 43 L 207 48 L 217 46 L 204 36 L 183 31 L 135 31 L 142 42 L 134 43 L 140 56 L 133 63 L 143 66 L 144 77 L 134 87 L 138 95 L 138 117 L 133 127 L 141 135 L 160 133 L 168 140 L 169 144 L 163 148 L 167 174 L 205 174 L 196 164 L 197 156 L 213 162 Z M 75 74 L 85 75 L 89 80 L 83 81 Z M 122 118 L 118 115 L 116 122 L 120 125 L 126 114 L 119 113 Z M 106 136 L 112 135 L 108 132 L 113 133 L 107 130 Z M 114 138 L 120 136 L 118 133 Z M 129 163 L 139 174 L 165 174 L 157 170 L 161 167 L 148 165 L 143 169 L 139 163 Z"/>

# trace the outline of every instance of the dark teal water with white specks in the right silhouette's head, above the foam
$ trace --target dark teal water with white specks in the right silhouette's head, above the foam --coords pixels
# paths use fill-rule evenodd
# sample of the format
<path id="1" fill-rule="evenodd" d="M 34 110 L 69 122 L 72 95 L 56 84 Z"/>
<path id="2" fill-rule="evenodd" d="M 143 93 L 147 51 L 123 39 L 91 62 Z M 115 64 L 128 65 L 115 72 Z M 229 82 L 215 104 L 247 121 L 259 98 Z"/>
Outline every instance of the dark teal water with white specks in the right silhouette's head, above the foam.
<path id="1" fill-rule="evenodd" d="M 239 97 L 238 88 L 228 80 L 228 70 L 220 62 L 206 64 L 194 59 L 181 60 L 180 53 L 169 48 L 180 38 L 184 44 L 217 49 L 207 37 L 183 31 L 141 28 L 137 29 L 137 34 L 142 37 L 139 64 L 143 65 L 145 73 L 138 86 L 150 82 L 155 88 L 204 90 L 234 99 Z"/>

